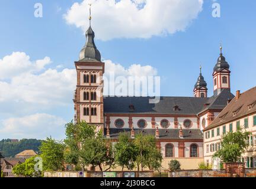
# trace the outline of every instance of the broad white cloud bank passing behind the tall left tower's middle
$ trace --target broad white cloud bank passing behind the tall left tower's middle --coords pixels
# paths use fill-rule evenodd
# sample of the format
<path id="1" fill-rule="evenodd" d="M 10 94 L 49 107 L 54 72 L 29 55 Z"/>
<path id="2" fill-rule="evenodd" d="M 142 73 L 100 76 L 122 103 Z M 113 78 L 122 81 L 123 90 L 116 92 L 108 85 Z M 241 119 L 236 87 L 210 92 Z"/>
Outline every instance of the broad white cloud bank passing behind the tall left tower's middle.
<path id="1" fill-rule="evenodd" d="M 73 109 L 76 70 L 46 69 L 50 63 L 49 57 L 31 61 L 20 52 L 0 59 L 0 139 L 64 136 L 65 122 L 73 116 L 67 113 Z M 151 66 L 125 68 L 105 60 L 106 77 L 110 71 L 124 77 L 157 74 Z"/>

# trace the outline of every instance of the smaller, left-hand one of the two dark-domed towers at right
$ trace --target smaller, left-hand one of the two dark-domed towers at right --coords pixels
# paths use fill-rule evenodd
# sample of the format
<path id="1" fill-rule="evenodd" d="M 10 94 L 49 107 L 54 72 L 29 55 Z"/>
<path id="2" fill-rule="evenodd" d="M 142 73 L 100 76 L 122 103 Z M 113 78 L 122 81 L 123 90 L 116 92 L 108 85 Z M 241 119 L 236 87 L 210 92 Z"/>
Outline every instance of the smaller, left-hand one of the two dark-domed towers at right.
<path id="1" fill-rule="evenodd" d="M 200 66 L 200 75 L 197 79 L 197 82 L 194 86 L 194 96 L 195 97 L 207 97 L 207 83 L 204 81 L 204 77 L 201 74 L 201 66 Z"/>

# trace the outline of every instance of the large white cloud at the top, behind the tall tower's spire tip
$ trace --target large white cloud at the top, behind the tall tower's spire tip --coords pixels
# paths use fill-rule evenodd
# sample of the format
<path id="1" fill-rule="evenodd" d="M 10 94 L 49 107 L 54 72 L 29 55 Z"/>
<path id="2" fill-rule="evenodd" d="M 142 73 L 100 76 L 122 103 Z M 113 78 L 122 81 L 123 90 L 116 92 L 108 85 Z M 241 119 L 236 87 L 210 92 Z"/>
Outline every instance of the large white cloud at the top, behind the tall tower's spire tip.
<path id="1" fill-rule="evenodd" d="M 88 4 L 96 38 L 151 38 L 184 31 L 197 18 L 203 0 L 84 0 L 64 15 L 68 24 L 88 29 Z"/>

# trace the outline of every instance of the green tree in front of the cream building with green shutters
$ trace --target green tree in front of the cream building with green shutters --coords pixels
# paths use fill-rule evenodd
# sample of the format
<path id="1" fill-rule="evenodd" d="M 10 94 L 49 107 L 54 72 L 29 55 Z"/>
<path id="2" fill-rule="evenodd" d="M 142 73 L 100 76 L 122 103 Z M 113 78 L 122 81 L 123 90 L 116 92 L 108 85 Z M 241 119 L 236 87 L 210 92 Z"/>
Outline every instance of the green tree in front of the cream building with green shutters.
<path id="1" fill-rule="evenodd" d="M 213 157 L 219 157 L 222 162 L 237 162 L 247 148 L 247 139 L 250 132 L 238 128 L 236 132 L 228 132 L 222 137 L 221 148 Z"/>

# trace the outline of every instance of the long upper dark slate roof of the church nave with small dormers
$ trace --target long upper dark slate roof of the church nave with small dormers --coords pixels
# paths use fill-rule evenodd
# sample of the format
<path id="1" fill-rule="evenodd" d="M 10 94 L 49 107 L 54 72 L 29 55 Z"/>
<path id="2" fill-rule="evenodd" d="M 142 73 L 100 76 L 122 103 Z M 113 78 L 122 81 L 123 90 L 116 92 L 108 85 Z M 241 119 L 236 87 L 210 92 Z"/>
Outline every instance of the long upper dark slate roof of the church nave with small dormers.
<path id="1" fill-rule="evenodd" d="M 206 109 L 223 109 L 228 99 L 233 99 L 230 90 L 222 90 L 218 96 L 197 97 L 160 97 L 160 102 L 149 103 L 151 97 L 104 97 L 104 113 L 171 114 L 197 115 Z M 134 106 L 134 110 L 130 109 Z M 178 106 L 178 111 L 174 107 Z"/>

